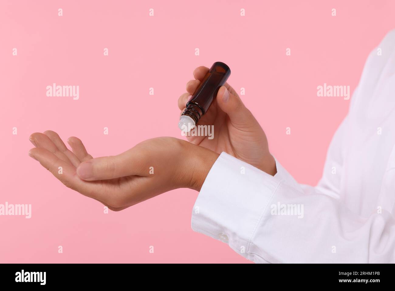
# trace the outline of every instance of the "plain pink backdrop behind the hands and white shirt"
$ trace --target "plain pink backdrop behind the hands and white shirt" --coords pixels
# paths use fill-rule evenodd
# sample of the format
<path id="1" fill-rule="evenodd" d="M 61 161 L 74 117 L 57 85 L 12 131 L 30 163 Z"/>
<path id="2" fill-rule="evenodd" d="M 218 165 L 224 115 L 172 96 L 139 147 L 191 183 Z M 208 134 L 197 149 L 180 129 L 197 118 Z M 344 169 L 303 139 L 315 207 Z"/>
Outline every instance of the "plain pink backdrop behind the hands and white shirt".
<path id="1" fill-rule="evenodd" d="M 0 216 L 0 263 L 248 262 L 192 231 L 195 191 L 103 214 L 28 157 L 29 135 L 77 136 L 94 157 L 182 138 L 178 97 L 194 68 L 222 61 L 275 157 L 297 181 L 316 184 L 350 103 L 317 97 L 316 87 L 352 93 L 368 53 L 395 27 L 394 11 L 394 1 L 1 1 L 0 204 L 32 204 L 32 218 Z M 79 100 L 47 97 L 52 83 L 79 85 Z"/>

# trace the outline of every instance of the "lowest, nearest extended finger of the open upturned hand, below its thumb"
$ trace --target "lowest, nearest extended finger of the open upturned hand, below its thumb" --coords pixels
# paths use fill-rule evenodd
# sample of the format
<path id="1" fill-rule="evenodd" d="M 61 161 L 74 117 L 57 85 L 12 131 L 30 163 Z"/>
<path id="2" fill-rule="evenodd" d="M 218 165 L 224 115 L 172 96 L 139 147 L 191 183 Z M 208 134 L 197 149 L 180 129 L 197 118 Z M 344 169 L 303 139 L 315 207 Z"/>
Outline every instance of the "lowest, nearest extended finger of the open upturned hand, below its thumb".
<path id="1" fill-rule="evenodd" d="M 106 201 L 106 198 L 108 198 L 108 191 L 106 191 L 105 187 L 99 187 L 98 183 L 81 180 L 76 175 L 74 166 L 59 159 L 55 154 L 51 153 L 51 151 L 42 147 L 36 147 L 30 149 L 29 155 L 39 161 L 44 168 L 49 170 L 58 180 L 70 189 L 100 201 Z"/>

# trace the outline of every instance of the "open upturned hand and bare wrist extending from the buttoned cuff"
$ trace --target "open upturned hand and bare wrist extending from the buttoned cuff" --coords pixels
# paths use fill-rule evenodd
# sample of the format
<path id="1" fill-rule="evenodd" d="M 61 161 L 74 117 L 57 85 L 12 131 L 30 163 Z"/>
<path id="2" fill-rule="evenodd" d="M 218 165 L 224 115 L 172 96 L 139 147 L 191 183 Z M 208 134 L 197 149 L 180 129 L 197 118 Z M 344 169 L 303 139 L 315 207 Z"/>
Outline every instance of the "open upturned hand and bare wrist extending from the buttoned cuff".
<path id="1" fill-rule="evenodd" d="M 29 139 L 36 147 L 29 155 L 64 185 L 116 211 L 172 189 L 200 191 L 218 157 L 169 137 L 146 140 L 120 155 L 96 159 L 75 137 L 68 139 L 72 151 L 51 130 L 33 133 Z"/>

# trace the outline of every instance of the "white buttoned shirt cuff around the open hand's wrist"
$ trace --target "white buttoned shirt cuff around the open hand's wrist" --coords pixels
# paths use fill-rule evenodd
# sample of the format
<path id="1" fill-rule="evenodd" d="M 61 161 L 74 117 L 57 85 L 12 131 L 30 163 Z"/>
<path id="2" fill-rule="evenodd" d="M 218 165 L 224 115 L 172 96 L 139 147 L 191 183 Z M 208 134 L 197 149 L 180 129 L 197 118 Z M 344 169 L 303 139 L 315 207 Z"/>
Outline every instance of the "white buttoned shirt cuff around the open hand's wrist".
<path id="1" fill-rule="evenodd" d="M 277 174 L 271 176 L 222 152 L 196 199 L 192 229 L 229 244 L 249 259 L 251 238 L 286 174 L 277 164 Z"/>

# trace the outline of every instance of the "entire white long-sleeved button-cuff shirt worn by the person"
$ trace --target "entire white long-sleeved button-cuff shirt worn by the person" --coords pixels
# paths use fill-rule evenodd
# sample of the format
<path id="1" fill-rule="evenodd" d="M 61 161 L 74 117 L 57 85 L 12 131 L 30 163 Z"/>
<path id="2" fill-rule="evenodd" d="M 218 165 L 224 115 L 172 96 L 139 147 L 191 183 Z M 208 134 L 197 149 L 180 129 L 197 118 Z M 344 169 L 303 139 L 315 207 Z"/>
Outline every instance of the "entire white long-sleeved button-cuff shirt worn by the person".
<path id="1" fill-rule="evenodd" d="M 192 229 L 256 263 L 395 263 L 395 30 L 378 47 L 316 187 L 297 183 L 277 160 L 270 176 L 223 152 Z"/>

